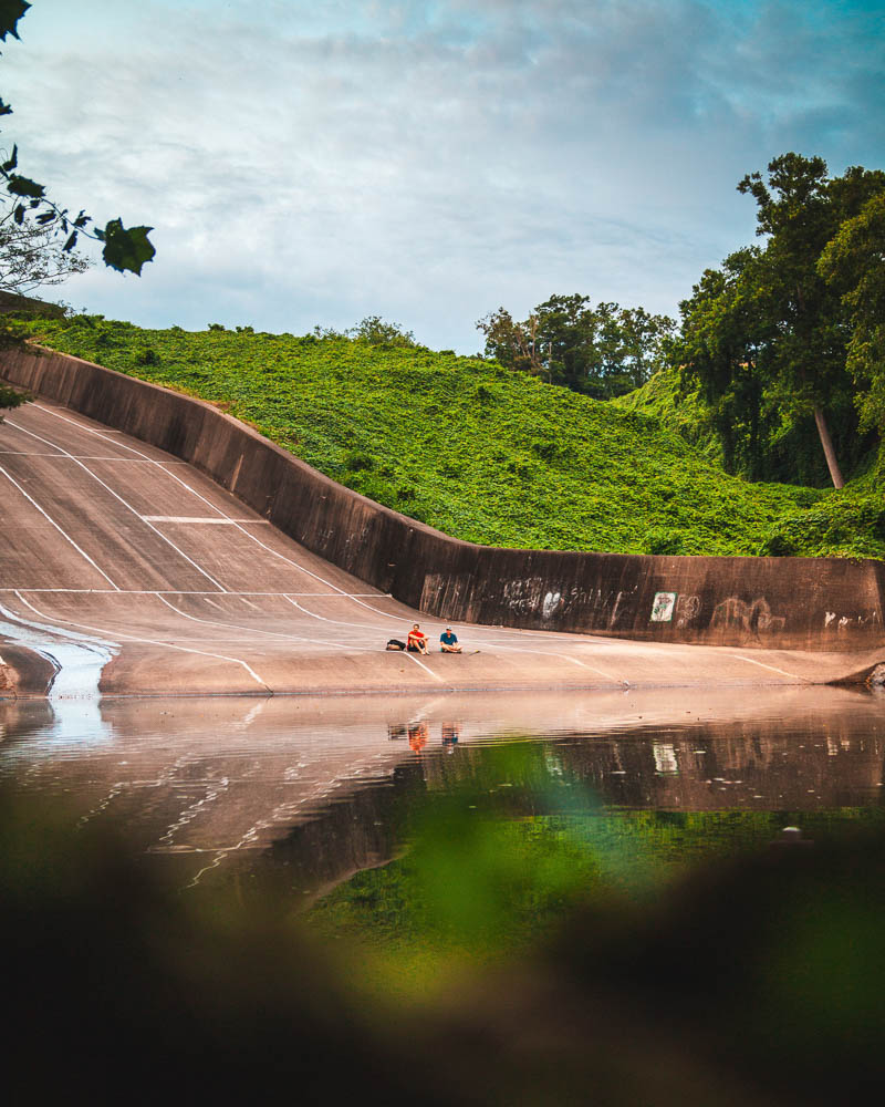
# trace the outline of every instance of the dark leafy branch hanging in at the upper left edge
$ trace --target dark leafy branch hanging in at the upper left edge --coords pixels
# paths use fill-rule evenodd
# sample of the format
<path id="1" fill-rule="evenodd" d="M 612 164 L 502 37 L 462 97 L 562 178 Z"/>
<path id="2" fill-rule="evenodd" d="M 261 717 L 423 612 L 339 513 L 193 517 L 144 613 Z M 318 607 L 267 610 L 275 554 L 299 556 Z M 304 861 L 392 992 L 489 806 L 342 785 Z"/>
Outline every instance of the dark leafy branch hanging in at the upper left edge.
<path id="1" fill-rule="evenodd" d="M 19 38 L 19 21 L 30 7 L 25 0 L 0 0 L 0 41 L 6 42 L 9 35 Z M 0 116 L 11 114 L 12 108 L 0 99 Z M 144 265 L 154 257 L 154 247 L 147 237 L 152 227 L 126 228 L 122 220 L 111 219 L 104 228 L 91 228 L 93 219 L 84 210 L 76 216 L 70 215 L 67 208 L 59 207 L 46 195 L 43 185 L 19 172 L 18 146 L 13 146 L 0 163 L 0 185 L 6 188 L 0 226 L 38 227 L 58 238 L 63 252 L 73 250 L 81 236 L 94 238 L 104 246 L 105 265 L 119 272 L 140 276 Z"/>

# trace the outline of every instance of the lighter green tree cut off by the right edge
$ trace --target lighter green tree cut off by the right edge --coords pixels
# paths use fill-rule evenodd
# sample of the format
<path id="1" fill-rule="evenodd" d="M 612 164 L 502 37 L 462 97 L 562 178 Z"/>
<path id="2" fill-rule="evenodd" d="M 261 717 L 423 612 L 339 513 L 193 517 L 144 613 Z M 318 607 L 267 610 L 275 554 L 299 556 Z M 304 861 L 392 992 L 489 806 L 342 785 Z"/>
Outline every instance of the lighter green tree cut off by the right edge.
<path id="1" fill-rule="evenodd" d="M 847 368 L 862 430 L 885 433 L 885 190 L 867 200 L 827 244 L 818 271 L 842 292 L 851 338 Z"/>

